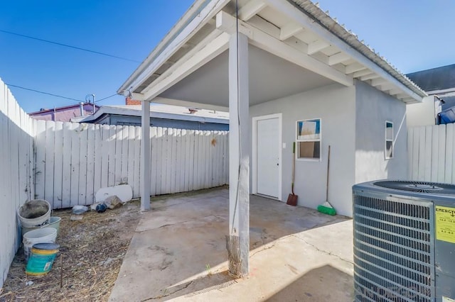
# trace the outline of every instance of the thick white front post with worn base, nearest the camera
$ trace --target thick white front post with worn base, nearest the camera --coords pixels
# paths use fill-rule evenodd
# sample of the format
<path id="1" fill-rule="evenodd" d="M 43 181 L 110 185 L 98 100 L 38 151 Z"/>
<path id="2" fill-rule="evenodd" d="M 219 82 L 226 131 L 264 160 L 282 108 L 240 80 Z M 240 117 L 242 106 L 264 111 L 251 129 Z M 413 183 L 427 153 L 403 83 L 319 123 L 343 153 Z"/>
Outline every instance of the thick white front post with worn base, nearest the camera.
<path id="1" fill-rule="evenodd" d="M 248 86 L 248 38 L 242 33 L 233 33 L 229 41 L 230 167 L 227 246 L 230 273 L 244 277 L 248 276 L 250 252 L 251 142 Z"/>

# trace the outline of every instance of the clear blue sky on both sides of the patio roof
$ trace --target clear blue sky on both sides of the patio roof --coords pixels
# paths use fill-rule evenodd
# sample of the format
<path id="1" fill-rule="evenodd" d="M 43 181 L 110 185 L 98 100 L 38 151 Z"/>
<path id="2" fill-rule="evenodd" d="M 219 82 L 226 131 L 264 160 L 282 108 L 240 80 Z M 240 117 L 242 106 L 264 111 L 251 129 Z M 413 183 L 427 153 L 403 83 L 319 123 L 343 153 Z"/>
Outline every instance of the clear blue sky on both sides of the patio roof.
<path id="1" fill-rule="evenodd" d="M 0 30 L 142 61 L 193 0 L 4 1 Z M 404 73 L 454 64 L 455 1 L 319 0 Z M 115 94 L 138 62 L 118 60 L 0 32 L 7 84 L 85 100 Z M 25 111 L 76 101 L 10 87 Z M 100 104 L 123 104 L 114 96 Z"/>

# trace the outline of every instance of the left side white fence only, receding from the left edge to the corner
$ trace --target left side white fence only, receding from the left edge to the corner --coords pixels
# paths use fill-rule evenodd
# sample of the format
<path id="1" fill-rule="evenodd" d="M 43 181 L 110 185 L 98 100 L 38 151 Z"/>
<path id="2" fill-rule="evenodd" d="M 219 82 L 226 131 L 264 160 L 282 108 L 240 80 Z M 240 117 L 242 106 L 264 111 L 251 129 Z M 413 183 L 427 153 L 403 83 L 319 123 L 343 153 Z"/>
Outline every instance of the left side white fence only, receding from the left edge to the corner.
<path id="1" fill-rule="evenodd" d="M 0 79 L 0 289 L 21 241 L 16 209 L 33 198 L 33 123 Z"/>

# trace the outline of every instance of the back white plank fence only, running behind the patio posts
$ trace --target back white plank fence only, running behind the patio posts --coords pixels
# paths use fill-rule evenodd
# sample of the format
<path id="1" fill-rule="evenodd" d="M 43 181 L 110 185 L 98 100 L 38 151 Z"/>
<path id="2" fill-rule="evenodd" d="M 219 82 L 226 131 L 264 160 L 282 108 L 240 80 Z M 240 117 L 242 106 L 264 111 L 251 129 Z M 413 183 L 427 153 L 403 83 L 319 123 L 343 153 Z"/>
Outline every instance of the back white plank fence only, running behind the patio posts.
<path id="1" fill-rule="evenodd" d="M 36 198 L 68 208 L 94 202 L 105 186 L 130 184 L 139 197 L 141 128 L 35 121 Z M 150 129 L 151 194 L 228 183 L 228 132 Z"/>

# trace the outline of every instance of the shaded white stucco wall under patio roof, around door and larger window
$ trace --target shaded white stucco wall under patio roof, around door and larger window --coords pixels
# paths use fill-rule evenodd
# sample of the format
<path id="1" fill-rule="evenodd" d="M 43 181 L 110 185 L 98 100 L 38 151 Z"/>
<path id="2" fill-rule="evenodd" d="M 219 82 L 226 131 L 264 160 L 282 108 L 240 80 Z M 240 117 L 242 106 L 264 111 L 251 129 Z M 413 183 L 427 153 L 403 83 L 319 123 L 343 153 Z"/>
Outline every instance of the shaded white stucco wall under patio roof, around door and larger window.
<path id="1" fill-rule="evenodd" d="M 286 143 L 286 148 L 282 149 L 281 200 L 287 201 L 287 196 L 291 193 L 292 142 L 296 140 L 296 121 L 321 118 L 322 160 L 296 161 L 294 191 L 299 196 L 299 206 L 316 208 L 326 200 L 327 152 L 328 145 L 331 145 L 328 201 L 339 214 L 352 216 L 355 86 L 331 84 L 250 107 L 251 117 L 272 113 L 282 113 L 282 140 Z"/>

